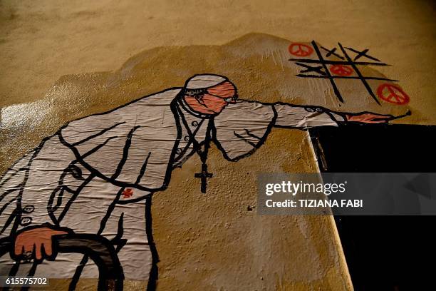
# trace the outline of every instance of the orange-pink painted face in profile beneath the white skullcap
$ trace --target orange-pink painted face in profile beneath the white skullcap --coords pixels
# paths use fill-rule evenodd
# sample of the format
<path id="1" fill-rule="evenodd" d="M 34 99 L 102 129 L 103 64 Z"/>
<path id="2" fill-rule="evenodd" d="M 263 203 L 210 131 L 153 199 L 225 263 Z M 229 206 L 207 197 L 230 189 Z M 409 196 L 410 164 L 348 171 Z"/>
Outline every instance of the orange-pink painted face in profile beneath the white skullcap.
<path id="1" fill-rule="evenodd" d="M 207 89 L 199 103 L 209 114 L 220 113 L 229 103 L 236 103 L 237 89 L 229 81 Z"/>

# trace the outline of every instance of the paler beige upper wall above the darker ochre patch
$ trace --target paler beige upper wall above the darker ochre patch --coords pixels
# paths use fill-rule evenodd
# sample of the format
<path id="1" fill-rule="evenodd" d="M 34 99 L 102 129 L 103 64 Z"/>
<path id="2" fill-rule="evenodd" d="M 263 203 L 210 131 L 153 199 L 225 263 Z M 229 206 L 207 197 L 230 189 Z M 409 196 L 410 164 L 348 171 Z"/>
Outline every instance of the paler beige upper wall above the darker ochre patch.
<path id="1" fill-rule="evenodd" d="M 414 108 L 435 106 L 432 1 L 0 2 L 0 106 L 43 98 L 60 76 L 113 71 L 157 46 L 224 44 L 259 32 L 342 41 L 393 64 Z M 432 115 L 427 113 L 425 121 Z"/>

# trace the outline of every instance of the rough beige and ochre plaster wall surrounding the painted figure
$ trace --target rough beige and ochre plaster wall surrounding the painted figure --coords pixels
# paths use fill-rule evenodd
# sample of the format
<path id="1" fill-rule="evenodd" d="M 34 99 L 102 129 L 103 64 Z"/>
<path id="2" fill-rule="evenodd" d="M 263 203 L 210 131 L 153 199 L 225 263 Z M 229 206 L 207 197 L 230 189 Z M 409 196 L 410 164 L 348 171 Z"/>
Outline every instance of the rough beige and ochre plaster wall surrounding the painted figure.
<path id="1" fill-rule="evenodd" d="M 246 99 L 395 115 L 410 108 L 395 122 L 435 124 L 430 1 L 1 1 L 0 14 L 1 172 L 63 123 L 182 86 L 194 73 L 228 76 Z M 287 46 L 312 39 L 370 48 L 393 65 L 377 70 L 400 80 L 410 103 L 376 106 L 344 85 L 356 95 L 340 105 L 325 83 L 296 78 Z M 238 163 L 212 148 L 207 195 L 193 177 L 199 166 L 188 160 L 153 200 L 161 290 L 351 289 L 331 218 L 248 210 L 259 168 L 316 171 L 306 133 L 274 129 Z"/>

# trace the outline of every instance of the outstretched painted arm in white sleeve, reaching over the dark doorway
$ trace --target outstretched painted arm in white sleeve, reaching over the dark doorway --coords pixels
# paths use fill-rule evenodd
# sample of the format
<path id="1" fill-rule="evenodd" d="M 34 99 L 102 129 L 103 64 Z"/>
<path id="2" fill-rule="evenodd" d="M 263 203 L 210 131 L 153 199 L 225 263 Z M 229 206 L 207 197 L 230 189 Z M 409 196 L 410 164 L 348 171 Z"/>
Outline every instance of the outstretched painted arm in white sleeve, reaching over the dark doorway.
<path id="1" fill-rule="evenodd" d="M 240 100 L 229 104 L 214 118 L 213 138 L 224 158 L 237 161 L 254 153 L 266 141 L 273 127 L 305 129 L 338 126 L 338 123 L 348 121 L 376 121 L 375 118 L 389 121 L 393 117 L 375 113 L 338 113 L 316 106 Z"/>

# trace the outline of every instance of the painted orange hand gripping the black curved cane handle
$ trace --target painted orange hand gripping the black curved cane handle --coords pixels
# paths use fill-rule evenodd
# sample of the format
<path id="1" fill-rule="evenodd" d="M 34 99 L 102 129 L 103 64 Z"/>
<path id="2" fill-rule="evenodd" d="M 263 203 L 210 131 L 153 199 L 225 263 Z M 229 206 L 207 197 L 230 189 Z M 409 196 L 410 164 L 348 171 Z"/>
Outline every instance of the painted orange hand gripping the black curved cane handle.
<path id="1" fill-rule="evenodd" d="M 14 255 L 25 260 L 42 260 L 53 255 L 53 235 L 66 235 L 67 231 L 56 230 L 47 226 L 38 226 L 24 230 L 16 236 Z"/>

